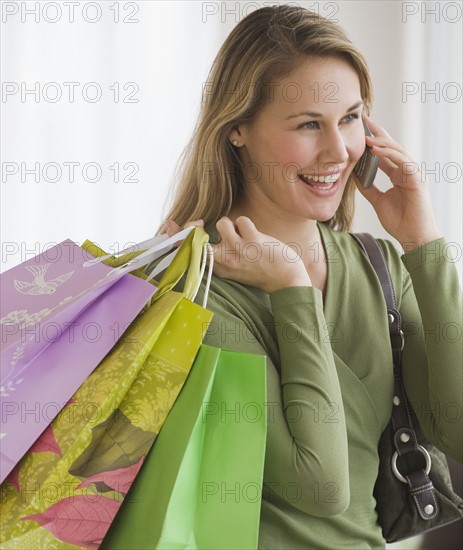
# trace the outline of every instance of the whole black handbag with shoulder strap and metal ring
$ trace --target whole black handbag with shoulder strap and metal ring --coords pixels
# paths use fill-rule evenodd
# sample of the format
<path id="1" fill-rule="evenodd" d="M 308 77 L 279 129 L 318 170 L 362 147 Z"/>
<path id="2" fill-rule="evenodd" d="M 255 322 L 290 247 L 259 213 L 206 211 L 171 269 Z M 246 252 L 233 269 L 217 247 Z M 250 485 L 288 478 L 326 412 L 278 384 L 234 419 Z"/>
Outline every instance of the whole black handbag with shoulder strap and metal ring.
<path id="1" fill-rule="evenodd" d="M 392 416 L 379 442 L 379 471 L 373 495 L 386 542 L 397 542 L 463 517 L 463 500 L 453 491 L 444 453 L 425 437 L 402 381 L 404 334 L 394 287 L 377 241 L 352 233 L 376 271 L 389 317 L 394 362 Z"/>

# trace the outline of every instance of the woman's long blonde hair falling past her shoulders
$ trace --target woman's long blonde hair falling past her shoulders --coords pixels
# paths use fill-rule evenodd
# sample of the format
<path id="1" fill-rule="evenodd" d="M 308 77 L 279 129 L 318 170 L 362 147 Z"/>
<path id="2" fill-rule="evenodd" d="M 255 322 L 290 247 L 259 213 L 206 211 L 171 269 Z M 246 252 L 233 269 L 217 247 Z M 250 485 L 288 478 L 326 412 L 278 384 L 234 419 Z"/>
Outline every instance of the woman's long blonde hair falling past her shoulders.
<path id="1" fill-rule="evenodd" d="M 208 227 L 230 212 L 244 180 L 229 133 L 256 115 L 268 101 L 269 84 L 289 75 L 306 56 L 347 61 L 358 74 L 364 112 L 369 114 L 373 93 L 368 66 L 340 26 L 296 6 L 250 13 L 231 31 L 212 64 L 193 136 L 179 159 L 178 185 L 166 219 L 181 226 L 203 219 Z M 351 176 L 336 214 L 326 224 L 350 229 L 354 194 Z"/>

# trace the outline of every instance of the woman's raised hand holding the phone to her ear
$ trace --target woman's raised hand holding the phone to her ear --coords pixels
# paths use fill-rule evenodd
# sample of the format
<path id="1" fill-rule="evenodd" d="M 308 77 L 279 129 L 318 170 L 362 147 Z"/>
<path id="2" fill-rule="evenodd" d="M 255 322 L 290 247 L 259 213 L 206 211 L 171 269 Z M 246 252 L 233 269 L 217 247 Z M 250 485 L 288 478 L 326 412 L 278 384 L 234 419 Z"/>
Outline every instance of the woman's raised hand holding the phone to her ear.
<path id="1" fill-rule="evenodd" d="M 404 250 L 412 250 L 441 237 L 431 205 L 429 186 L 409 154 L 382 126 L 365 117 L 374 137 L 367 145 L 380 159 L 379 167 L 393 187 L 383 192 L 375 185 L 365 189 L 355 177 L 357 187 L 371 203 L 379 221 Z"/>

